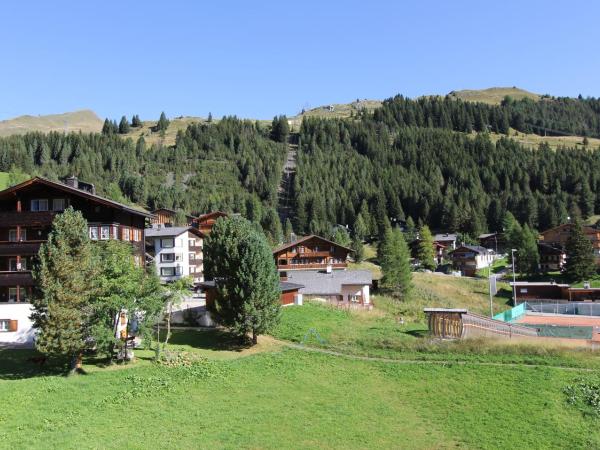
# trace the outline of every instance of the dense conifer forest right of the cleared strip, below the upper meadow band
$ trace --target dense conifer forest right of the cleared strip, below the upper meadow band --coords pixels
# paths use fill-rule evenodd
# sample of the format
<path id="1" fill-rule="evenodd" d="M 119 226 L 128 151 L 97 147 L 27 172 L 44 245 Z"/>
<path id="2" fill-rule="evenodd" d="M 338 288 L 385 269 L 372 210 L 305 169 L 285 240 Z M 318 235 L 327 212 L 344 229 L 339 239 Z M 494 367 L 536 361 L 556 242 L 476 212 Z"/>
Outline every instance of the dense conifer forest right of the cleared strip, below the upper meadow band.
<path id="1" fill-rule="evenodd" d="M 358 223 L 375 235 L 387 217 L 477 236 L 500 231 L 507 211 L 545 229 L 600 211 L 599 170 L 600 150 L 528 150 L 508 138 L 390 125 L 377 113 L 310 118 L 300 130 L 295 229 Z"/>

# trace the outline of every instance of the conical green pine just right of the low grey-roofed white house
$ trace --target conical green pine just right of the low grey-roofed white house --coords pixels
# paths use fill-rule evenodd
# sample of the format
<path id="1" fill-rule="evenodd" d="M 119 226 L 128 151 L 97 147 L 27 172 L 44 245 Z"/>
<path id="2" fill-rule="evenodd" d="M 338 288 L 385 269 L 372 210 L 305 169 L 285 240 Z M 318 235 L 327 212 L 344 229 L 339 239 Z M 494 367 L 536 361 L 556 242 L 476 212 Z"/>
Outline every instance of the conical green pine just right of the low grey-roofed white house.
<path id="1" fill-rule="evenodd" d="M 388 228 L 380 245 L 381 286 L 405 297 L 412 287 L 410 252 L 399 228 Z"/>

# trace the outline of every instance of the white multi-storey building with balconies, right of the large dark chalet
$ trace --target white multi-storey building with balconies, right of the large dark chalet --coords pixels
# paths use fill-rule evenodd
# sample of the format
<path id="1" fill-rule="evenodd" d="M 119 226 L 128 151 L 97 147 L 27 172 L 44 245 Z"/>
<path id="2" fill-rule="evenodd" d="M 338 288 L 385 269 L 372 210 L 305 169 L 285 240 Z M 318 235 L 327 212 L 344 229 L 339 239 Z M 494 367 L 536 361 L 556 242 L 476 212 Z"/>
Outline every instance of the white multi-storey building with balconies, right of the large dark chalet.
<path id="1" fill-rule="evenodd" d="M 193 227 L 154 224 L 146 229 L 146 252 L 153 259 L 161 282 L 189 276 L 204 281 L 204 234 Z"/>

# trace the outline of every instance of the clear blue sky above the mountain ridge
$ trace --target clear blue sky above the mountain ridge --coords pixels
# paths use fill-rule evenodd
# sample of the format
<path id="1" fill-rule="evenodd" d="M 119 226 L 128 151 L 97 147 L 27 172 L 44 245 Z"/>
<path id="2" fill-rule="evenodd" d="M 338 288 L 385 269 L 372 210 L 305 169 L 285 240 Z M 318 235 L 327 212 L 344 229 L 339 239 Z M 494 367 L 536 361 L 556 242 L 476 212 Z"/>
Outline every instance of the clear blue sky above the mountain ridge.
<path id="1" fill-rule="evenodd" d="M 0 14 L 0 119 L 265 119 L 513 85 L 600 96 L 597 2 L 23 0 Z"/>

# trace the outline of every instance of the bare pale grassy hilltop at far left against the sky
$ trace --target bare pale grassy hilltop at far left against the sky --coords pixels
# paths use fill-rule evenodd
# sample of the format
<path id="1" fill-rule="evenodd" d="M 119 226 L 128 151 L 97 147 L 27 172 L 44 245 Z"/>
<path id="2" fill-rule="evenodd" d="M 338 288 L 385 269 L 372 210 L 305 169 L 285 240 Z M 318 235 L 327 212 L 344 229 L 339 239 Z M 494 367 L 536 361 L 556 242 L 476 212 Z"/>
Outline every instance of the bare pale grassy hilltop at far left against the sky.
<path id="1" fill-rule="evenodd" d="M 89 109 L 46 116 L 19 116 L 0 121 L 0 136 L 25 134 L 30 131 L 98 133 L 102 130 L 102 122 L 96 113 Z"/>

